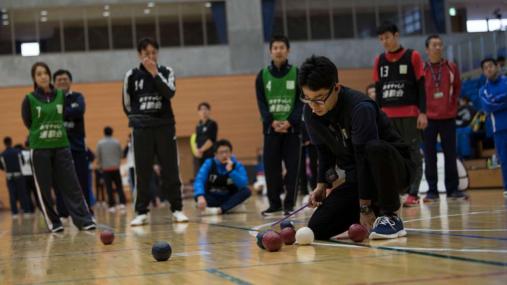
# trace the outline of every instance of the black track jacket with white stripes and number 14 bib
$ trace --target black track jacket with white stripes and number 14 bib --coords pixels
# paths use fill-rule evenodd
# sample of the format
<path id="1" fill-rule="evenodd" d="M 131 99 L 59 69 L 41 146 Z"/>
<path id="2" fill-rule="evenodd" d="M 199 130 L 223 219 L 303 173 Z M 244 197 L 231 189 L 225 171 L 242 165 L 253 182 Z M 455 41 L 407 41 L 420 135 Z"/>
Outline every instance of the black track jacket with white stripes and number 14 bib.
<path id="1" fill-rule="evenodd" d="M 158 65 L 156 77 L 142 63 L 130 69 L 123 81 L 123 111 L 129 118 L 129 127 L 174 125 L 170 99 L 175 91 L 171 67 Z"/>

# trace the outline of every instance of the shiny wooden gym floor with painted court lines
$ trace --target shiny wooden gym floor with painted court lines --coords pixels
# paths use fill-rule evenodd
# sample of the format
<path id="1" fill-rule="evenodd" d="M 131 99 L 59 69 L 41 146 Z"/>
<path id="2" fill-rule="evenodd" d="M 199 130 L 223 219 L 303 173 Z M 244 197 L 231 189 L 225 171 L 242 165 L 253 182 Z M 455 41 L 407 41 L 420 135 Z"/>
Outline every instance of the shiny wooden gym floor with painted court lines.
<path id="1" fill-rule="evenodd" d="M 501 190 L 468 191 L 469 202 L 446 201 L 404 208 L 407 237 L 353 243 L 348 239 L 284 245 L 269 253 L 255 243 L 265 197 L 247 213 L 201 218 L 191 200 L 190 223 L 173 224 L 168 208 L 152 210 L 152 224 L 131 228 L 130 207 L 110 213 L 96 207 L 99 229 L 49 234 L 40 214 L 12 220 L 0 213 L 0 283 L 97 284 L 506 284 L 507 209 Z M 306 226 L 311 209 L 298 213 Z M 276 217 L 278 218 L 278 217 Z M 113 244 L 99 235 L 112 230 Z M 279 227 L 276 227 L 279 231 Z M 172 256 L 156 262 L 151 247 L 167 241 Z"/>

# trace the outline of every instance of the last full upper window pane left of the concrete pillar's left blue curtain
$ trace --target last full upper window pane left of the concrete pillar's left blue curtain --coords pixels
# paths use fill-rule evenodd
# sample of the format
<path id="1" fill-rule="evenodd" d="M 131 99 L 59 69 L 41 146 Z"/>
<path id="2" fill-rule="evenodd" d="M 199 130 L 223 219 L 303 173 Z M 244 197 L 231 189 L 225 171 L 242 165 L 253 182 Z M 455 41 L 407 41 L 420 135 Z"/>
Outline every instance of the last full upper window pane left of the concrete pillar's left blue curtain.
<path id="1" fill-rule="evenodd" d="M 185 46 L 204 45 L 203 11 L 204 3 L 182 3 L 183 38 Z"/>

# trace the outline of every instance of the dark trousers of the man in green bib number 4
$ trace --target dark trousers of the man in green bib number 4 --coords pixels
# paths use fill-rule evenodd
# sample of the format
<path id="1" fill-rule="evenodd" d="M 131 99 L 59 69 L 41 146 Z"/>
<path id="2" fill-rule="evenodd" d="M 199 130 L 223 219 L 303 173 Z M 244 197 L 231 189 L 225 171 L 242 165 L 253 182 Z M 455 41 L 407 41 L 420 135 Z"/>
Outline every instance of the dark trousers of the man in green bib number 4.
<path id="1" fill-rule="evenodd" d="M 263 166 L 268 188 L 269 205 L 272 208 L 282 206 L 280 193 L 283 185 L 287 195 L 283 201 L 285 210 L 292 210 L 296 204 L 297 184 L 301 155 L 300 133 L 275 133 L 264 135 Z M 282 160 L 285 163 L 285 179 L 282 181 Z"/>

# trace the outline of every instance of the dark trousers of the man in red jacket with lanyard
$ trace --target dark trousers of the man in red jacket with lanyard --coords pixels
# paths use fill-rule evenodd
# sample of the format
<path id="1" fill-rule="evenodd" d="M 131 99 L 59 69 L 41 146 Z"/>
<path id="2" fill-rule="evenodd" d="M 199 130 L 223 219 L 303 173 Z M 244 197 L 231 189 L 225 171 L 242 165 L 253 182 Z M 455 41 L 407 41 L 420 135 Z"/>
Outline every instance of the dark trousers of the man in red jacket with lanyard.
<path id="1" fill-rule="evenodd" d="M 438 194 L 437 135 L 440 134 L 445 158 L 445 188 L 447 195 L 458 191 L 458 166 L 456 164 L 456 120 L 428 120 L 424 129 L 424 174 L 429 185 L 428 192 Z"/>

